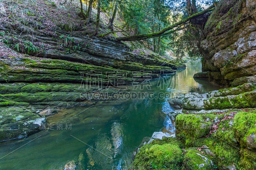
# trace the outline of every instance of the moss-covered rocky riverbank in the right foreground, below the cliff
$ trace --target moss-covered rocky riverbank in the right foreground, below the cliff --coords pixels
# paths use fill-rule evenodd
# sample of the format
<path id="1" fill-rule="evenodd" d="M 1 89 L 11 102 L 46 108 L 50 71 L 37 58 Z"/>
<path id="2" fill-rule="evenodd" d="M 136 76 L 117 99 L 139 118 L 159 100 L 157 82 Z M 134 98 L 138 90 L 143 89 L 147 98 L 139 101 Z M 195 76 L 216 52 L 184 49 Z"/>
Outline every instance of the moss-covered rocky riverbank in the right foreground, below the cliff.
<path id="1" fill-rule="evenodd" d="M 175 122 L 176 137 L 149 141 L 140 148 L 132 166 L 254 170 L 255 93 L 256 84 L 247 83 L 170 99 L 172 107 L 182 108 L 168 114 Z"/>

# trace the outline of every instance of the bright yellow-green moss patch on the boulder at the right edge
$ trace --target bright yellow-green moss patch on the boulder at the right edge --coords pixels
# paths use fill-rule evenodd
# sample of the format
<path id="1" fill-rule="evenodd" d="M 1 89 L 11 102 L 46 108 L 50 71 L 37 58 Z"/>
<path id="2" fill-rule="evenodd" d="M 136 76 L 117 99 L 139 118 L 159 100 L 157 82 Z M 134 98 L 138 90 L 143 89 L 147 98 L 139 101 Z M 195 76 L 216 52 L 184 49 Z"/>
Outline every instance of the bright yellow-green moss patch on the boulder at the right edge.
<path id="1" fill-rule="evenodd" d="M 256 134 L 256 111 L 238 112 L 234 116 L 234 132 L 241 147 L 247 148 L 246 137 Z"/>

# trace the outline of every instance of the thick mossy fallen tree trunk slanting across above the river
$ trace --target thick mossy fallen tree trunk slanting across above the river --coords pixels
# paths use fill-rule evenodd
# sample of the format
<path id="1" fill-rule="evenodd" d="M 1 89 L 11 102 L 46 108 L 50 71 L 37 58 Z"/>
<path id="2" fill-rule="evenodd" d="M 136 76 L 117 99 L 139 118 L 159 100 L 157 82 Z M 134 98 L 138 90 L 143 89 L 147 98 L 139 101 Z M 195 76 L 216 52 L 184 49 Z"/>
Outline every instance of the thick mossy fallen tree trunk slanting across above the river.
<path id="1" fill-rule="evenodd" d="M 136 40 L 144 40 L 144 39 L 149 39 L 149 38 L 154 38 L 154 37 L 159 37 L 159 36 L 163 36 L 164 33 L 166 33 L 167 31 L 169 30 L 172 30 L 173 28 L 177 27 L 177 26 L 180 26 L 186 22 L 188 22 L 189 20 L 191 19 L 195 19 L 199 16 L 202 16 L 210 11 L 213 11 L 214 10 L 214 5 L 210 6 L 209 8 L 207 8 L 206 10 L 202 11 L 202 12 L 199 12 L 199 13 L 196 13 L 196 14 L 193 14 L 191 16 L 189 16 L 188 18 L 185 18 L 171 26 L 168 26 L 168 27 L 165 27 L 164 29 L 162 29 L 161 31 L 159 32 L 156 32 L 156 33 L 146 33 L 146 34 L 138 34 L 138 35 L 131 35 L 131 36 L 125 36 L 125 37 L 118 37 L 116 38 L 116 40 L 119 40 L 119 41 L 136 41 Z"/>

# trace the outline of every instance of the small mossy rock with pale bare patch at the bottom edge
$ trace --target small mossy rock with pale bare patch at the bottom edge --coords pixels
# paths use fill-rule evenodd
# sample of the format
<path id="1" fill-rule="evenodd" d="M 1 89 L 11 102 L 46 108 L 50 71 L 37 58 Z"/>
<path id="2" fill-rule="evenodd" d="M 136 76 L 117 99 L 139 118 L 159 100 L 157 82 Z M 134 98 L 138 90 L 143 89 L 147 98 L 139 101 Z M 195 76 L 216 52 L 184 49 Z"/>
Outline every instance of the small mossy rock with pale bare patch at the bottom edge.
<path id="1" fill-rule="evenodd" d="M 186 170 L 212 170 L 212 157 L 195 149 L 188 150 L 184 156 L 183 164 Z"/>

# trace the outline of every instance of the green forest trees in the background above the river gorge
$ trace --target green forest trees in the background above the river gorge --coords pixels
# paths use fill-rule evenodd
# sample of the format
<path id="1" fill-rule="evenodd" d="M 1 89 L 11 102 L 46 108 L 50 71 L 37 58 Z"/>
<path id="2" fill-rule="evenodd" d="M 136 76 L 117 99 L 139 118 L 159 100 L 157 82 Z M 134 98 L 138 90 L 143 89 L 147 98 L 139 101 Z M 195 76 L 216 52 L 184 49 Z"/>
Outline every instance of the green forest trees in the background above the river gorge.
<path id="1" fill-rule="evenodd" d="M 143 40 L 154 52 L 172 50 L 179 58 L 185 53 L 196 55 L 198 46 L 192 44 L 200 43 L 205 24 L 202 18 L 215 7 L 213 0 L 88 0 L 87 4 L 86 13 L 81 8 L 85 25 L 90 22 L 93 4 L 98 8 L 95 35 L 99 32 L 100 11 L 107 11 L 109 33 L 100 36 L 126 32 L 116 40 Z M 123 23 L 122 31 L 114 30 L 117 16 Z M 185 40 L 188 42 L 184 43 Z"/>

